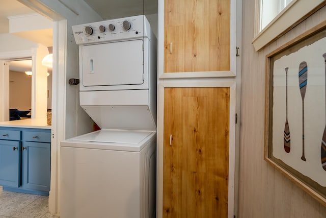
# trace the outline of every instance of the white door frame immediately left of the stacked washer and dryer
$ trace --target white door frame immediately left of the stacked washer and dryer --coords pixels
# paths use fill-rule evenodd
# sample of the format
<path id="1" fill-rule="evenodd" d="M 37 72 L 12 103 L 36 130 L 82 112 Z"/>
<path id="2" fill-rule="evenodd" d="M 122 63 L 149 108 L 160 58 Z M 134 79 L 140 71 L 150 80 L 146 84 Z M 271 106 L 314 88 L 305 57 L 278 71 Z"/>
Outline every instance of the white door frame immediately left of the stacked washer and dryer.
<path id="1" fill-rule="evenodd" d="M 60 213 L 60 141 L 65 139 L 66 123 L 66 66 L 67 66 L 67 19 L 76 14 L 59 1 L 17 0 L 37 13 L 53 21 L 52 67 L 52 124 L 51 124 L 51 182 L 49 212 Z M 46 3 L 44 3 L 46 2 Z M 59 14 L 60 11 L 65 15 Z"/>

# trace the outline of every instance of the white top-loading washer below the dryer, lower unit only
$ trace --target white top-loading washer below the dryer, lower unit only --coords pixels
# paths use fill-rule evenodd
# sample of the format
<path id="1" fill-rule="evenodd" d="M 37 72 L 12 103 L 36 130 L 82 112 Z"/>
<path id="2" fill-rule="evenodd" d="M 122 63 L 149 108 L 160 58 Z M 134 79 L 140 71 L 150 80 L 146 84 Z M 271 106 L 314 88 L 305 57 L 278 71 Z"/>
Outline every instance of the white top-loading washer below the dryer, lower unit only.
<path id="1" fill-rule="evenodd" d="M 61 217 L 154 217 L 155 149 L 152 131 L 101 130 L 62 142 Z"/>

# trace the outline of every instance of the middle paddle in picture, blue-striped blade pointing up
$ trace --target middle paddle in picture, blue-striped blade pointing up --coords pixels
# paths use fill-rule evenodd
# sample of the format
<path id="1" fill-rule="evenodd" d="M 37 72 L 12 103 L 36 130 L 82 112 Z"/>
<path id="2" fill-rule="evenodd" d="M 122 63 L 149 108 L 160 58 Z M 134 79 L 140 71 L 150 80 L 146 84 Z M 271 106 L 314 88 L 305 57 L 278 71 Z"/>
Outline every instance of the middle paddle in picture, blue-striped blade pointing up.
<path id="1" fill-rule="evenodd" d="M 308 79 L 308 66 L 305 61 L 301 62 L 299 65 L 299 87 L 302 98 L 302 157 L 303 161 L 306 161 L 305 157 L 305 94 L 307 89 L 307 79 Z"/>

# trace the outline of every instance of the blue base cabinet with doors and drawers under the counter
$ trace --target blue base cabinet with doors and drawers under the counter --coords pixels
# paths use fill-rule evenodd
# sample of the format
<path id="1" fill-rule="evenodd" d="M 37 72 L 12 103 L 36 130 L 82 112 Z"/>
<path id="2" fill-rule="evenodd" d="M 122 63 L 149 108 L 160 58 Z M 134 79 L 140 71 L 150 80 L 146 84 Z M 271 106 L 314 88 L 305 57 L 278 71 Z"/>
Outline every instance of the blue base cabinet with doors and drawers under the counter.
<path id="1" fill-rule="evenodd" d="M 48 196 L 50 135 L 49 129 L 0 127 L 0 185 L 4 190 Z"/>

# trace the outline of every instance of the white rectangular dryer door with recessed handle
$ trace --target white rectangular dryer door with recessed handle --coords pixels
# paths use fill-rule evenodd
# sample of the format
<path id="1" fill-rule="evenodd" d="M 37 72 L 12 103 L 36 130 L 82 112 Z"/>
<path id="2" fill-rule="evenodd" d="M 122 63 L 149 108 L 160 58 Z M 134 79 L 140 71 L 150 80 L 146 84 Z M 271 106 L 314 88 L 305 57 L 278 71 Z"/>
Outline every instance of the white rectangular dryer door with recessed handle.
<path id="1" fill-rule="evenodd" d="M 84 86 L 144 83 L 143 40 L 82 46 Z"/>

